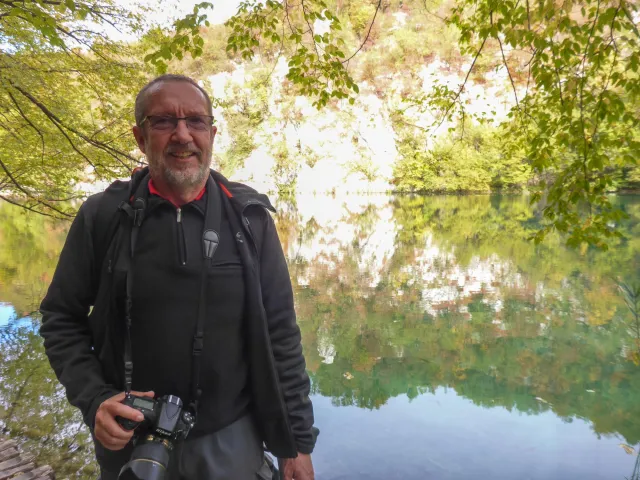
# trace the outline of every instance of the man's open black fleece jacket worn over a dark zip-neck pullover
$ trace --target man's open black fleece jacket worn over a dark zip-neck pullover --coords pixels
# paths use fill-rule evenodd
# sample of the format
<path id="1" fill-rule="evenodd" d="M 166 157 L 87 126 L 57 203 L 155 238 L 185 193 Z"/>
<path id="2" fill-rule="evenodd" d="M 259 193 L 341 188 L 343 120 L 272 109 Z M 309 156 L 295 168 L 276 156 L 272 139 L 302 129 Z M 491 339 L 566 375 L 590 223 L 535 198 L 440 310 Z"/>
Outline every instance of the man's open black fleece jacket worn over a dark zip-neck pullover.
<path id="1" fill-rule="evenodd" d="M 211 174 L 226 193 L 223 203 L 243 263 L 248 381 L 258 428 L 278 457 L 311 453 L 317 430 L 310 381 L 287 264 L 266 211 L 273 207 L 255 190 Z M 112 292 L 118 279 L 97 265 L 96 223 L 105 219 L 96 215 L 103 195 L 115 192 L 126 198 L 128 189 L 129 182 L 116 182 L 81 206 L 40 309 L 40 334 L 51 366 L 92 430 L 100 404 L 124 388 L 122 318 Z M 109 451 L 96 445 L 96 455 L 100 461 Z"/>

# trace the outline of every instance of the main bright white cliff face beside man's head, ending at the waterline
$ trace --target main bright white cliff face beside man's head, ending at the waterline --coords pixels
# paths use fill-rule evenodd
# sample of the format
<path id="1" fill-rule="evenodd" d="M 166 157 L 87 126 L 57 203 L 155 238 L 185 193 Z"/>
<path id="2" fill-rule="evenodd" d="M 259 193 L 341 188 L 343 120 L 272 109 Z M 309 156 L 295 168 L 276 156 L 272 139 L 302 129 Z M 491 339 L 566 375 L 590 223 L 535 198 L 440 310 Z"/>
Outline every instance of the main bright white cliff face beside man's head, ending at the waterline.
<path id="1" fill-rule="evenodd" d="M 262 191 L 277 191 L 278 185 L 292 179 L 295 190 L 304 192 L 331 192 L 345 186 L 350 191 L 388 190 L 397 150 L 384 101 L 363 92 L 354 106 L 339 102 L 318 111 L 308 98 L 283 91 L 286 72 L 281 60 L 270 79 L 268 111 L 252 135 L 255 148 L 232 173 L 234 180 Z M 250 88 L 254 80 L 239 65 L 233 73 L 209 77 L 208 86 L 220 101 L 233 101 L 237 89 Z M 238 133 L 228 130 L 225 111 L 229 108 L 215 112 L 218 155 L 224 154 Z M 278 166 L 284 170 L 280 175 Z"/>

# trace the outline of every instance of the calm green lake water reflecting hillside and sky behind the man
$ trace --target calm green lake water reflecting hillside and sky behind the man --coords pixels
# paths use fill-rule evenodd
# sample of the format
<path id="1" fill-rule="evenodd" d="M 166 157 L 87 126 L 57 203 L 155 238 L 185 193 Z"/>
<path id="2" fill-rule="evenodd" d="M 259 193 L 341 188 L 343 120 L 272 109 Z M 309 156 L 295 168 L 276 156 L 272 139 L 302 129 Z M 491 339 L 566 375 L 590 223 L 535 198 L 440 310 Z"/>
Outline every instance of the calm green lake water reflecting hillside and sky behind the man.
<path id="1" fill-rule="evenodd" d="M 279 202 L 316 477 L 640 479 L 640 320 L 618 286 L 640 283 L 640 197 L 616 201 L 608 252 L 533 245 L 520 196 Z M 0 428 L 92 478 L 34 331 L 67 228 L 0 204 Z"/>

